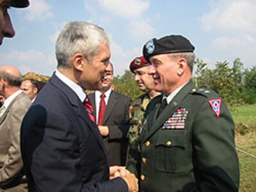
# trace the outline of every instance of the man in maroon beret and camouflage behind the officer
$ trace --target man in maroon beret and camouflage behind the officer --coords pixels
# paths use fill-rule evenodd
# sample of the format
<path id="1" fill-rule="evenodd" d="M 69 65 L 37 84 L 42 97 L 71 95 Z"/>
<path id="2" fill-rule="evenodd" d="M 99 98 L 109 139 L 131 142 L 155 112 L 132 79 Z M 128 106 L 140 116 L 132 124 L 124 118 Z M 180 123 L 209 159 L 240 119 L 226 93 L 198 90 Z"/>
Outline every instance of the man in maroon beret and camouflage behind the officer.
<path id="1" fill-rule="evenodd" d="M 133 173 L 136 173 L 137 168 L 135 168 L 136 159 L 139 158 L 138 147 L 139 147 L 139 132 L 142 125 L 142 120 L 146 107 L 151 99 L 159 95 L 159 92 L 154 90 L 153 77 L 149 76 L 148 70 L 150 63 L 146 61 L 143 56 L 135 58 L 130 63 L 130 70 L 135 74 L 134 81 L 139 86 L 142 92 L 146 92 L 137 99 L 133 100 L 130 106 L 130 127 L 128 129 L 128 162 L 126 168 Z"/>

